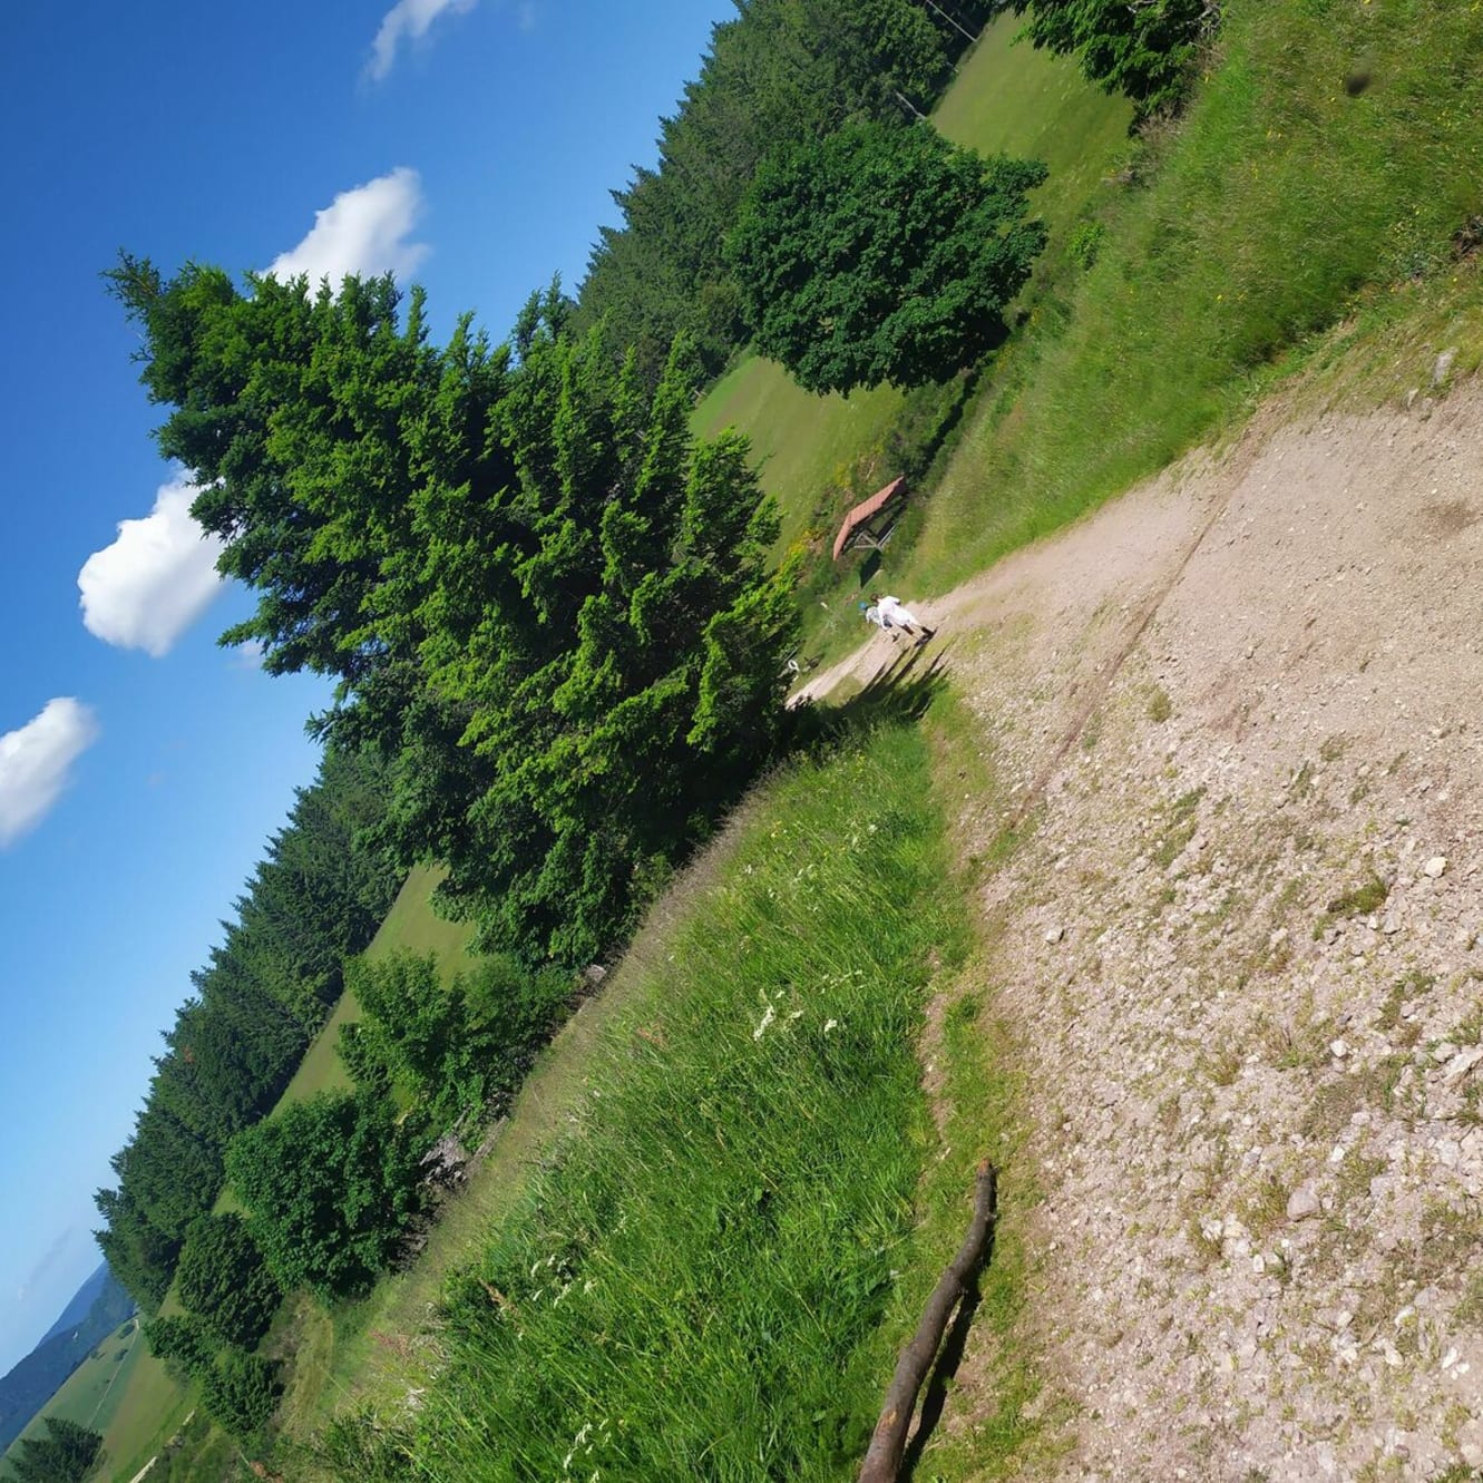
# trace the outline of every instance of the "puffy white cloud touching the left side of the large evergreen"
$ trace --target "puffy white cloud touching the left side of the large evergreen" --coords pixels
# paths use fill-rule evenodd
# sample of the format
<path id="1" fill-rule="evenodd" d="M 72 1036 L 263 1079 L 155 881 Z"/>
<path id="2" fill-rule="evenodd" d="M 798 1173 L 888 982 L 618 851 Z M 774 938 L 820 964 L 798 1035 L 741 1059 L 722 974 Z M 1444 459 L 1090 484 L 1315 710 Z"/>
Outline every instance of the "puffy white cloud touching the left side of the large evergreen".
<path id="1" fill-rule="evenodd" d="M 206 611 L 222 586 L 221 541 L 191 519 L 196 492 L 184 479 L 160 485 L 154 509 L 120 521 L 119 538 L 83 562 L 77 586 L 89 633 L 160 658 Z"/>

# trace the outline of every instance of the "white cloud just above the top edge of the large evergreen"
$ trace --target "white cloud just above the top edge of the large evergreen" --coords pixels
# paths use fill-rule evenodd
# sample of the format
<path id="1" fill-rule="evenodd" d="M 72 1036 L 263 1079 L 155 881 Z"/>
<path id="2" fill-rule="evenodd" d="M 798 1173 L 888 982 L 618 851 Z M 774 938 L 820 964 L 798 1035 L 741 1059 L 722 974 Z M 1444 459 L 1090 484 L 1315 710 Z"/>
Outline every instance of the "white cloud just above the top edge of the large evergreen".
<path id="1" fill-rule="evenodd" d="M 307 273 L 311 288 L 323 277 L 338 286 L 347 273 L 406 277 L 427 257 L 426 242 L 406 240 L 421 214 L 421 176 L 402 165 L 390 175 L 341 191 L 314 212 L 310 234 L 297 248 L 280 252 L 268 273 L 280 283 Z"/>

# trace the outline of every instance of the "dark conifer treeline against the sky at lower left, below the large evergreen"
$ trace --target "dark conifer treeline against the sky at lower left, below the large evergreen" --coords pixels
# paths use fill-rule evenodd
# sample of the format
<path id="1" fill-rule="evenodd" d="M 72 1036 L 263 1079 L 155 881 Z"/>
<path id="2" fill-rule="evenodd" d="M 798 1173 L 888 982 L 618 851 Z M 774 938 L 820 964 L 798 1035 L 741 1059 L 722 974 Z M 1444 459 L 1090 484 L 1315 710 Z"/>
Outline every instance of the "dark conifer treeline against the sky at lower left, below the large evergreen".
<path id="1" fill-rule="evenodd" d="M 96 1195 L 108 1265 L 147 1309 L 221 1192 L 227 1143 L 277 1100 L 340 997 L 346 954 L 371 940 L 396 894 L 400 871 L 374 833 L 384 793 L 374 756 L 329 749 L 237 919 L 191 974 L 133 1134 L 113 1158 L 117 1188 Z"/>

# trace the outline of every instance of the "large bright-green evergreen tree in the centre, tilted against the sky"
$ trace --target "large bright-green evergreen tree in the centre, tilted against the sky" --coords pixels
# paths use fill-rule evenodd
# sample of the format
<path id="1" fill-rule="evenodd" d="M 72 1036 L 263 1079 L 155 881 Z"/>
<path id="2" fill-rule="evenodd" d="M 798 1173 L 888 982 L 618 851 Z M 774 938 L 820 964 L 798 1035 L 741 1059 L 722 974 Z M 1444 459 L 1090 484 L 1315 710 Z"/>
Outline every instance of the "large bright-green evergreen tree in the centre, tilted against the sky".
<path id="1" fill-rule="evenodd" d="M 260 598 L 224 641 L 338 681 L 325 734 L 381 749 L 386 836 L 489 943 L 611 945 L 783 715 L 776 515 L 740 439 L 694 445 L 688 347 L 650 394 L 555 288 L 509 346 L 464 320 L 439 350 L 390 280 L 236 294 L 126 257 L 113 283 L 160 445 Z"/>

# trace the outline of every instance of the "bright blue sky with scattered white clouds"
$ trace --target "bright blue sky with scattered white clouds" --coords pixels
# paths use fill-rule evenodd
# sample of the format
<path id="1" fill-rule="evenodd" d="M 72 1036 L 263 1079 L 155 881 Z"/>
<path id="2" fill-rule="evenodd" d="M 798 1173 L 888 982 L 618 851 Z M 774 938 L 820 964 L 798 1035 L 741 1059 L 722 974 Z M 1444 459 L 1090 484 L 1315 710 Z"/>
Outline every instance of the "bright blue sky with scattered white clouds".
<path id="1" fill-rule="evenodd" d="M 160 1031 L 316 755 L 154 451 L 99 271 L 394 270 L 442 337 L 561 271 L 730 0 L 18 6 L 0 335 L 0 1373 L 96 1265 Z"/>

